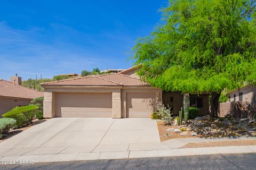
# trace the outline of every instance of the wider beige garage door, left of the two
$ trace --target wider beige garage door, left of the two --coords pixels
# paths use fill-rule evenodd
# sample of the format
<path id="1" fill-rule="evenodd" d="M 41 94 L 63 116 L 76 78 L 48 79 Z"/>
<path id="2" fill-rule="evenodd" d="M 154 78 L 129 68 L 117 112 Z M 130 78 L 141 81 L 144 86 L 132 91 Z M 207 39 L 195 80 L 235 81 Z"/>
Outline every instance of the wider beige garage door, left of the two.
<path id="1" fill-rule="evenodd" d="M 112 117 L 111 93 L 57 93 L 57 117 Z"/>

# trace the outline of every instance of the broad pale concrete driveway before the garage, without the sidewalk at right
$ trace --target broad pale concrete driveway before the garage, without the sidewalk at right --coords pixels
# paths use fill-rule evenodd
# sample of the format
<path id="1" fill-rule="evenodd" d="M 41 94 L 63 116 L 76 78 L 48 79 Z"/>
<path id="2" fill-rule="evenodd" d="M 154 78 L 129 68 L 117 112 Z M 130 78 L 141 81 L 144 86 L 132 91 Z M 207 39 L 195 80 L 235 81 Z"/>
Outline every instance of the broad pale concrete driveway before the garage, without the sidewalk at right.
<path id="1" fill-rule="evenodd" d="M 150 118 L 61 117 L 37 124 L 1 142 L 0 159 L 6 156 L 51 154 L 73 157 L 77 153 L 115 151 L 126 157 L 132 143 L 136 147 L 159 142 L 156 121 Z M 93 157 L 92 154 L 90 156 Z M 98 154 L 95 157 L 99 157 Z M 53 158 L 48 161 L 51 160 Z"/>

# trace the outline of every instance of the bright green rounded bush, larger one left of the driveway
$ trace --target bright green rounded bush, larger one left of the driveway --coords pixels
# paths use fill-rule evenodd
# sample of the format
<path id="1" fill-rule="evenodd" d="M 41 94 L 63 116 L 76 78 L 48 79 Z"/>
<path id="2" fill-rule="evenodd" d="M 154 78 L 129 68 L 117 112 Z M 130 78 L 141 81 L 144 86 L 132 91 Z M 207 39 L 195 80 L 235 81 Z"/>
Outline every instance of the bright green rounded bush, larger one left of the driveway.
<path id="1" fill-rule="evenodd" d="M 16 126 L 21 127 L 23 125 L 31 123 L 33 117 L 38 113 L 38 106 L 29 105 L 15 107 L 11 111 L 3 114 L 3 117 L 14 118 L 16 120 Z"/>

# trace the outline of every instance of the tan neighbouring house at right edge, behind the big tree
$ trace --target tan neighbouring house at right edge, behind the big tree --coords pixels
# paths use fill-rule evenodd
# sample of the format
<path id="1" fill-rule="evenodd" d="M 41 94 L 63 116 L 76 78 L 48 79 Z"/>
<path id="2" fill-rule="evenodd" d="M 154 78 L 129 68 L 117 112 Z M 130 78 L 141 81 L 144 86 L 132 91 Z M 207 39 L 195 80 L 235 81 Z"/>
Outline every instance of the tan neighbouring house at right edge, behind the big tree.
<path id="1" fill-rule="evenodd" d="M 220 103 L 220 116 L 252 117 L 256 112 L 256 86 L 247 85 L 226 94 L 228 101 Z"/>

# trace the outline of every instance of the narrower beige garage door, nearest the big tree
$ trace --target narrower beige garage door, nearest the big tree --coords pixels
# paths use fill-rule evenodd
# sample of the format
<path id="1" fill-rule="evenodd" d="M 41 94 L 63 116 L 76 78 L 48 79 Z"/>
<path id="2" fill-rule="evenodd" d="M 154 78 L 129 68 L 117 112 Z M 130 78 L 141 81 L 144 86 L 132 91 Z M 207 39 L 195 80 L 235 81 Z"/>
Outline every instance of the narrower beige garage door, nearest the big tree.
<path id="1" fill-rule="evenodd" d="M 126 117 L 150 117 L 155 111 L 155 93 L 126 94 Z"/>

